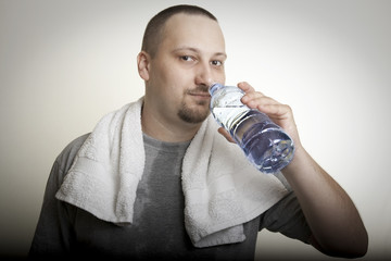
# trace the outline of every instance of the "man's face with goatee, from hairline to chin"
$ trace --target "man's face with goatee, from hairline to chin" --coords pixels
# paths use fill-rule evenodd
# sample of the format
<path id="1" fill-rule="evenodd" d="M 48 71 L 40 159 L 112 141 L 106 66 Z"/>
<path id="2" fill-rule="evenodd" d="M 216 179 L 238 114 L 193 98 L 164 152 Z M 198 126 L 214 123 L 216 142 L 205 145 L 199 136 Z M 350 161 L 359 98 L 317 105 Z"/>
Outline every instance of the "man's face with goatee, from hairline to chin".
<path id="1" fill-rule="evenodd" d="M 209 113 L 213 83 L 225 83 L 223 33 L 202 15 L 176 14 L 167 22 L 150 59 L 146 102 L 161 121 L 199 124 Z"/>

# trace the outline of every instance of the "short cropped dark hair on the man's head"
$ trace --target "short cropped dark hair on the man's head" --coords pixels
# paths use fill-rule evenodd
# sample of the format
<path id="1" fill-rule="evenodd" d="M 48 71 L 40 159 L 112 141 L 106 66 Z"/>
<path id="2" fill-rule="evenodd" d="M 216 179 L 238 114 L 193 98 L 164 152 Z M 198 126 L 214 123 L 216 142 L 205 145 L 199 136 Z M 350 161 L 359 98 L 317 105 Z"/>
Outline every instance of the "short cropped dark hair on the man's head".
<path id="1" fill-rule="evenodd" d="M 159 45 L 162 41 L 165 23 L 169 17 L 178 13 L 204 15 L 217 22 L 217 18 L 212 13 L 197 5 L 179 4 L 167 8 L 153 16 L 148 23 L 142 38 L 142 51 L 146 51 L 154 58 L 157 52 Z"/>

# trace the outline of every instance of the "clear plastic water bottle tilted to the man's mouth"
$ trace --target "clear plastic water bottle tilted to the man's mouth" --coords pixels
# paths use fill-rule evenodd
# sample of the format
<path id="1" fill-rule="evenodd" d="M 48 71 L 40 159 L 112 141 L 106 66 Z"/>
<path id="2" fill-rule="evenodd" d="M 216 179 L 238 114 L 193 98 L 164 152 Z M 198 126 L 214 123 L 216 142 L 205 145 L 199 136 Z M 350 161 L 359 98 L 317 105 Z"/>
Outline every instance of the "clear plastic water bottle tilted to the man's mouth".
<path id="1" fill-rule="evenodd" d="M 244 154 L 263 173 L 276 173 L 293 159 L 289 135 L 264 113 L 244 105 L 244 92 L 235 86 L 214 84 L 210 88 L 211 112 L 229 132 Z"/>

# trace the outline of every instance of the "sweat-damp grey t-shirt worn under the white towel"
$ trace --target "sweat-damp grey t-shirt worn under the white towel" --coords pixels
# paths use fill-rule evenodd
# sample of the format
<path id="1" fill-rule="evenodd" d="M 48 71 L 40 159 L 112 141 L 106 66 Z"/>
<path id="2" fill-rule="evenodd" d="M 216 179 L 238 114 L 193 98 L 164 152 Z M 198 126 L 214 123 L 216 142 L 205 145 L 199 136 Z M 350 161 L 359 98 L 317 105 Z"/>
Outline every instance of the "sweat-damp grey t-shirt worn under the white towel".
<path id="1" fill-rule="evenodd" d="M 110 257 L 128 260 L 253 260 L 257 232 L 267 228 L 307 243 L 311 231 L 293 192 L 243 224 L 243 243 L 195 248 L 184 223 L 181 162 L 189 142 L 144 135 L 146 167 L 137 189 L 134 223 L 118 226 L 54 198 L 88 135 L 55 160 L 47 184 L 30 257 Z"/>

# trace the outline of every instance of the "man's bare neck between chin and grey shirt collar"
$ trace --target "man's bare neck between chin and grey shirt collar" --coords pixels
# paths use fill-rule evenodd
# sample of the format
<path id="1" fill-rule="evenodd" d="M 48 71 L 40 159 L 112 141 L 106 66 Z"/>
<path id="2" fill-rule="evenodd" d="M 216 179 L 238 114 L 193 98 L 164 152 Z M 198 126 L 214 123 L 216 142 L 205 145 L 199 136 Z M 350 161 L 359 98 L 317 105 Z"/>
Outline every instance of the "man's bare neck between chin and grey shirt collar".
<path id="1" fill-rule="evenodd" d="M 141 126 L 142 132 L 157 140 L 167 142 L 181 142 L 191 140 L 202 123 L 191 124 L 178 119 L 177 122 L 166 122 L 148 108 L 142 108 Z"/>

